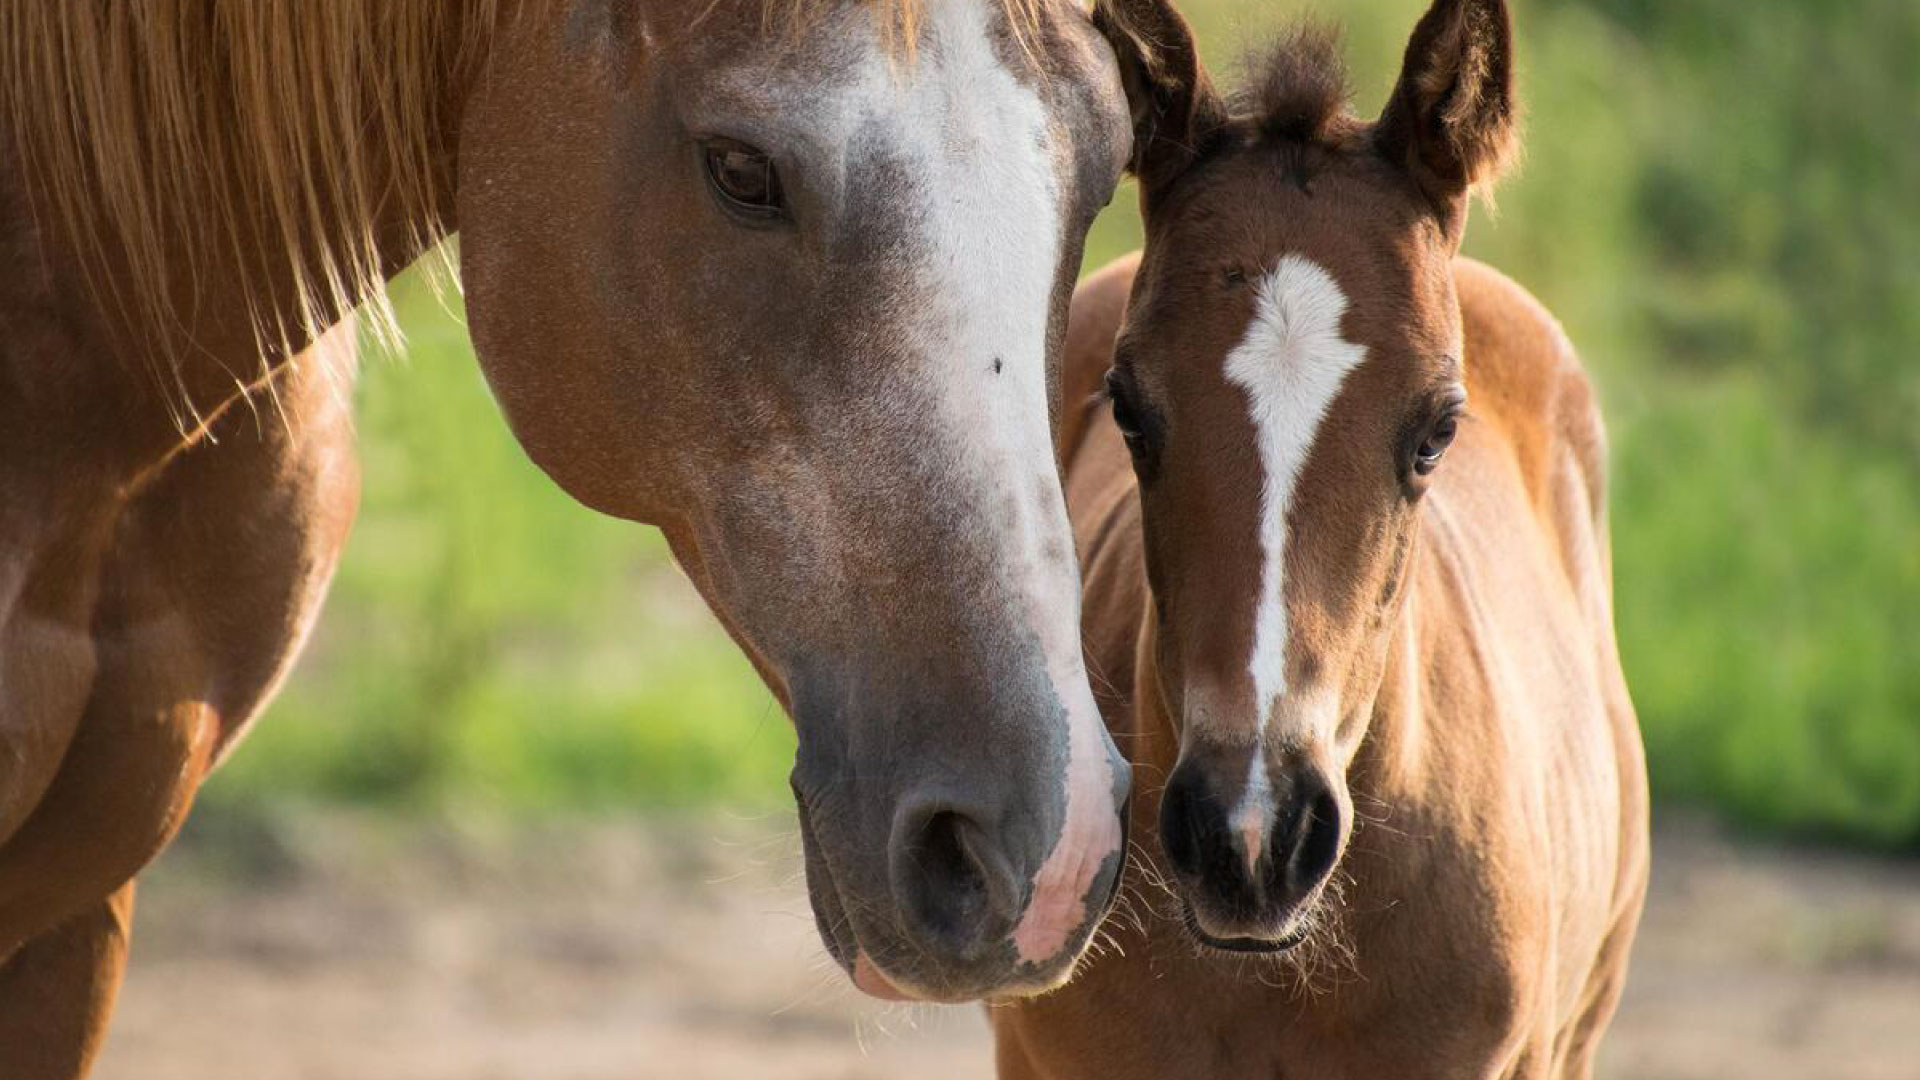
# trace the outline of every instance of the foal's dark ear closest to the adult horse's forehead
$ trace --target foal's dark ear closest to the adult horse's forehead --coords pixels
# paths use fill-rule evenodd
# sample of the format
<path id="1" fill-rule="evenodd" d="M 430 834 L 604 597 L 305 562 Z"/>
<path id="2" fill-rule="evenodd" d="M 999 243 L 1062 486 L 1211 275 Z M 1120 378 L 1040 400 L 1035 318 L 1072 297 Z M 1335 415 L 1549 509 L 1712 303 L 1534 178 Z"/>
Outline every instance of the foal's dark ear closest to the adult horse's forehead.
<path id="1" fill-rule="evenodd" d="M 1167 0 L 1094 0 L 1092 25 L 1114 46 L 1133 110 L 1133 160 L 1152 202 L 1192 165 L 1227 123 L 1227 108 L 1200 65 L 1187 19 Z"/>

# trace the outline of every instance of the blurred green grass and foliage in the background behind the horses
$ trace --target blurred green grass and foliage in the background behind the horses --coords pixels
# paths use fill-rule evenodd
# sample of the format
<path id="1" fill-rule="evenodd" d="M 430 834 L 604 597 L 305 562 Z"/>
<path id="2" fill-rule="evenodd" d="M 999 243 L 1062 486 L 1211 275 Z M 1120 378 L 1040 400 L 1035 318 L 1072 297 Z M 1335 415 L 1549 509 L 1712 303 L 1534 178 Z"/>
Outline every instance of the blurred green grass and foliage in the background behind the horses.
<path id="1" fill-rule="evenodd" d="M 1357 106 L 1421 0 L 1317 8 Z M 1190 0 L 1215 73 L 1294 6 Z M 1532 0 L 1526 163 L 1467 250 L 1599 379 L 1620 646 L 1667 801 L 1920 846 L 1920 6 Z M 1139 244 L 1131 192 L 1087 265 Z M 515 811 L 778 805 L 793 736 L 649 528 L 559 494 L 457 321 L 359 388 L 367 500 L 313 648 L 209 786 Z"/>

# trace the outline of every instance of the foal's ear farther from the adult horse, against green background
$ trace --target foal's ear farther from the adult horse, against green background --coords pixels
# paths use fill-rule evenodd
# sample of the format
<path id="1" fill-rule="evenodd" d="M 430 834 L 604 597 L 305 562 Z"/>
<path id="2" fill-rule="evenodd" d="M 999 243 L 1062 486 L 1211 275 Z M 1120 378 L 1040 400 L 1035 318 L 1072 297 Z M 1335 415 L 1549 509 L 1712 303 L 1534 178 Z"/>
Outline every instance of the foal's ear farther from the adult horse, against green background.
<path id="1" fill-rule="evenodd" d="M 1513 158 L 1513 17 L 1505 0 L 1434 0 L 1413 27 L 1375 138 L 1457 233 L 1467 194 L 1490 184 Z"/>

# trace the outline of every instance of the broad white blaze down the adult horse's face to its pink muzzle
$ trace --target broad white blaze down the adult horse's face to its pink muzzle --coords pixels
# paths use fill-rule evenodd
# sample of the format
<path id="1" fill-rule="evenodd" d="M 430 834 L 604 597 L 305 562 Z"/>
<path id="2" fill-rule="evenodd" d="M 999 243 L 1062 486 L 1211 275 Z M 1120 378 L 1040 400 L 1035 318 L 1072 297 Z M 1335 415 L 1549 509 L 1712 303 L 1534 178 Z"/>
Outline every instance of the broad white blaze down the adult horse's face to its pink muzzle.
<path id="1" fill-rule="evenodd" d="M 933 6 L 929 60 L 947 88 L 937 100 L 916 98 L 902 121 L 931 138 L 924 265 L 929 304 L 948 317 L 924 323 L 935 334 L 925 348 L 952 405 L 950 430 L 972 448 L 975 505 L 1002 509 L 1012 521 L 998 525 L 1018 528 L 1020 548 L 1004 561 L 1025 601 L 1016 615 L 1039 638 L 1068 713 L 1066 819 L 1014 928 L 1020 959 L 1039 965 L 1087 922 L 1092 880 L 1119 851 L 1119 807 L 1081 651 L 1079 575 L 1046 415 L 1046 319 L 1064 231 L 1060 161 L 1039 94 L 1006 69 L 985 17 L 977 0 Z"/>

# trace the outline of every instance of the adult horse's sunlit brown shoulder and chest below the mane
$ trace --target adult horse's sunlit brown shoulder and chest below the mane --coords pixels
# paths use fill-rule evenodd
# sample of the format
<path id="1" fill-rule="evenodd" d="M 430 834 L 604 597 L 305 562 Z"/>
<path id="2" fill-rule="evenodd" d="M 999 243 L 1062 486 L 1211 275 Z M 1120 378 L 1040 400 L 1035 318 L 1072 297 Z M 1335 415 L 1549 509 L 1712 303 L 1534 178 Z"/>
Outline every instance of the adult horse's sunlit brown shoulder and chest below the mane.
<path id="1" fill-rule="evenodd" d="M 0 838 L 0 957 L 167 844 L 311 628 L 359 492 L 330 375 L 349 369 L 351 329 L 323 342 L 280 369 L 278 405 L 228 407 L 209 438 L 131 479 L 104 511 L 98 559 L 56 582 L 86 601 L 63 617 L 88 650 L 84 680 L 25 701 L 27 726 L 61 724 L 67 738 Z M 21 653 L 35 640 L 15 632 L 31 615 L 0 609 L 0 671 L 35 661 Z"/>

